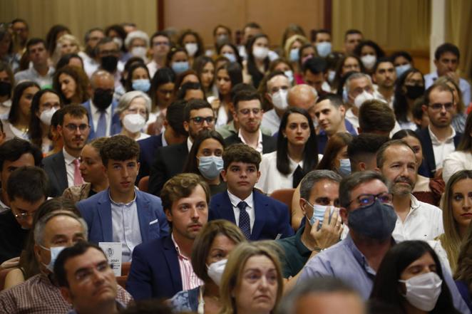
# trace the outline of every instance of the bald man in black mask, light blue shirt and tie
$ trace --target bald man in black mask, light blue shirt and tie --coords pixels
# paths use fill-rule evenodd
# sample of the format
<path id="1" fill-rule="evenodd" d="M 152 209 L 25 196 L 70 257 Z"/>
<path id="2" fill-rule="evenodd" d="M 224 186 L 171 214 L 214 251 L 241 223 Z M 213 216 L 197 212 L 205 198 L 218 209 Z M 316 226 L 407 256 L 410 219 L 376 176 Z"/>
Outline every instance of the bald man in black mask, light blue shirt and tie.
<path id="1" fill-rule="evenodd" d="M 90 124 L 89 140 L 109 137 L 121 132 L 120 117 L 116 115 L 118 103 L 113 100 L 115 82 L 106 70 L 97 70 L 90 79 L 91 99 L 83 103 Z"/>

